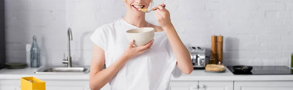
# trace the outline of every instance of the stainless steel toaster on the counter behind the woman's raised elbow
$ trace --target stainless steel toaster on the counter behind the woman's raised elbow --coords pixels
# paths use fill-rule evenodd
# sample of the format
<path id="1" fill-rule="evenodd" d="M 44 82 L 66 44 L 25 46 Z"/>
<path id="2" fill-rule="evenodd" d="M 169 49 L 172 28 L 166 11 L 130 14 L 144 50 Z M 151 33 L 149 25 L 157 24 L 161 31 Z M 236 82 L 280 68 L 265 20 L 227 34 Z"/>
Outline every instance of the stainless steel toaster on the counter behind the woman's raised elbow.
<path id="1" fill-rule="evenodd" d="M 188 46 L 187 49 L 191 57 L 193 69 L 205 69 L 206 65 L 209 64 L 206 49 L 199 46 Z"/>

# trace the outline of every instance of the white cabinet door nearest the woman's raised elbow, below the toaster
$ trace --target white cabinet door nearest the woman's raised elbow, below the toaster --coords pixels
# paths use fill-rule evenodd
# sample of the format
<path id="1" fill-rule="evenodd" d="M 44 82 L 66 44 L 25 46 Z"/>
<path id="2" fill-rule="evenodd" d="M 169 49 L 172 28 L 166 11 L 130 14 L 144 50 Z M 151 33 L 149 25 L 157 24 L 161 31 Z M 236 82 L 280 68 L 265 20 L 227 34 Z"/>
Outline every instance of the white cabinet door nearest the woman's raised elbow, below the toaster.
<path id="1" fill-rule="evenodd" d="M 171 81 L 169 90 L 198 90 L 198 81 Z"/>

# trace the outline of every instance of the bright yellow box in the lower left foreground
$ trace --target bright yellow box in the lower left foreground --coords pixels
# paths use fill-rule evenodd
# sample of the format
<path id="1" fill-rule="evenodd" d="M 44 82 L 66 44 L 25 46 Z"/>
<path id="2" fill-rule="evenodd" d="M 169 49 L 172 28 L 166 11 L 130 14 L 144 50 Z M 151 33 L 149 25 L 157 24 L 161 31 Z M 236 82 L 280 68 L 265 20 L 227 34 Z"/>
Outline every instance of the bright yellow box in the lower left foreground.
<path id="1" fill-rule="evenodd" d="M 46 85 L 36 77 L 21 77 L 21 90 L 46 90 Z"/>

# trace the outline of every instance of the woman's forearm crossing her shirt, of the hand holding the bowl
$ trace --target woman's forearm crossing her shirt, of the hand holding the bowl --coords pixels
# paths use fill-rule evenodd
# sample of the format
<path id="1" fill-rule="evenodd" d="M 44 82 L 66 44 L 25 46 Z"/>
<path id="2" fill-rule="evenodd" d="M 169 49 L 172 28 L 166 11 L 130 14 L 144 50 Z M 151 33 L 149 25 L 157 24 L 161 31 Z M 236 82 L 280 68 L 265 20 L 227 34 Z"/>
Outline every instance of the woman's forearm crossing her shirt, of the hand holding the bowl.
<path id="1" fill-rule="evenodd" d="M 118 60 L 116 60 L 112 65 L 107 67 L 106 69 L 97 72 L 93 78 L 91 86 L 94 87 L 92 90 L 100 90 L 103 88 L 117 73 L 118 71 L 125 65 L 128 57 L 122 55 Z"/>

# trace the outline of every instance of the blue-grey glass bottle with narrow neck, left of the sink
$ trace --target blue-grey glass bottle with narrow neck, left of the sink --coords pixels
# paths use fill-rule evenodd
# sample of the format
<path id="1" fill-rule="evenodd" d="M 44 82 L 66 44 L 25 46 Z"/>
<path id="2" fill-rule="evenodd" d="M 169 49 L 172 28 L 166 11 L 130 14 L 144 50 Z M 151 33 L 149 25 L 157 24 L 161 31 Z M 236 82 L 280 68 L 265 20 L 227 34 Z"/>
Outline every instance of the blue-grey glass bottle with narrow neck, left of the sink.
<path id="1" fill-rule="evenodd" d="M 32 68 L 40 67 L 40 48 L 37 44 L 37 37 L 35 35 L 33 36 L 33 44 L 30 50 L 30 56 L 30 66 Z"/>

